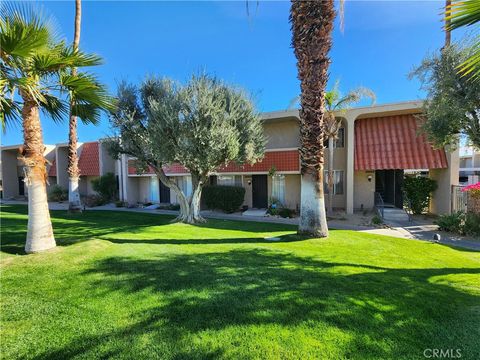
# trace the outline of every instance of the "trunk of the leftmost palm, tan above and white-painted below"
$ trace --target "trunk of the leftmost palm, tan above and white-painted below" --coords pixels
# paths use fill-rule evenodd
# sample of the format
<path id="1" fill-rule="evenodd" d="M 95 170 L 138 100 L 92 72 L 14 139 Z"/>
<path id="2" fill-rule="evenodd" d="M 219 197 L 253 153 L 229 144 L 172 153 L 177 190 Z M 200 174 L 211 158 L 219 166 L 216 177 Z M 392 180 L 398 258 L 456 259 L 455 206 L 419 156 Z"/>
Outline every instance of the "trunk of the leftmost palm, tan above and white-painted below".
<path id="1" fill-rule="evenodd" d="M 25 184 L 28 192 L 28 228 L 25 252 L 34 253 L 54 248 L 52 221 L 48 211 L 47 169 L 43 156 L 42 128 L 37 103 L 22 94 L 24 146 L 21 151 L 25 169 Z"/>

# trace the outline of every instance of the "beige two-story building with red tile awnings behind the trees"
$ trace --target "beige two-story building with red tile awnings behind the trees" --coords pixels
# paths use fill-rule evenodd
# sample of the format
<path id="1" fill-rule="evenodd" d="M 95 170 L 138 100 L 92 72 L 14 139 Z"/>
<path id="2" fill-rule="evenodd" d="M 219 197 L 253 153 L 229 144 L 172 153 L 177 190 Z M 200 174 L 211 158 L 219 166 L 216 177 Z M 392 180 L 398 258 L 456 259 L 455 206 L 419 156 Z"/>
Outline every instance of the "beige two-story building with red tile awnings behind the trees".
<path id="1" fill-rule="evenodd" d="M 353 108 L 338 114 L 342 127 L 334 149 L 334 208 L 347 213 L 372 209 L 379 196 L 386 204 L 402 207 L 404 172 L 418 170 L 438 183 L 431 211 L 451 211 L 451 188 L 458 184 L 459 153 L 433 149 L 425 137 L 419 135 L 421 107 L 422 102 L 411 101 Z M 266 208 L 269 201 L 275 199 L 288 208 L 298 209 L 301 190 L 299 113 L 297 110 L 269 112 L 262 115 L 262 120 L 267 138 L 264 159 L 252 166 L 228 164 L 212 174 L 210 182 L 243 186 L 246 190 L 244 205 L 250 208 Z M 66 145 L 47 148 L 52 158 L 48 169 L 50 182 L 66 188 Z M 2 148 L 4 198 L 19 193 L 15 188 L 20 187 L 21 171 L 15 149 L 18 151 L 18 147 Z M 153 172 L 139 173 L 135 160 L 125 155 L 113 160 L 101 141 L 81 144 L 79 152 L 82 194 L 91 193 L 92 178 L 114 172 L 119 179 L 121 200 L 130 204 L 176 203 L 175 193 L 159 182 Z M 328 163 L 325 169 L 327 166 Z M 187 195 L 191 193 L 191 177 L 181 164 L 166 166 L 165 172 Z"/>

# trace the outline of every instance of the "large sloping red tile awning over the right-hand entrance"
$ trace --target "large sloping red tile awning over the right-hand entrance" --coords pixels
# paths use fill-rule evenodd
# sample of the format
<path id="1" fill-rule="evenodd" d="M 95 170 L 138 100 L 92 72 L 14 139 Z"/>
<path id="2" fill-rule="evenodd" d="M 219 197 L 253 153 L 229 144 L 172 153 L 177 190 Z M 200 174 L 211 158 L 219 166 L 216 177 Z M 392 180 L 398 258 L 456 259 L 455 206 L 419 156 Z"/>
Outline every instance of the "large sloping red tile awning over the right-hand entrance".
<path id="1" fill-rule="evenodd" d="M 415 115 L 355 121 L 355 170 L 447 168 L 443 149 L 417 133 Z"/>

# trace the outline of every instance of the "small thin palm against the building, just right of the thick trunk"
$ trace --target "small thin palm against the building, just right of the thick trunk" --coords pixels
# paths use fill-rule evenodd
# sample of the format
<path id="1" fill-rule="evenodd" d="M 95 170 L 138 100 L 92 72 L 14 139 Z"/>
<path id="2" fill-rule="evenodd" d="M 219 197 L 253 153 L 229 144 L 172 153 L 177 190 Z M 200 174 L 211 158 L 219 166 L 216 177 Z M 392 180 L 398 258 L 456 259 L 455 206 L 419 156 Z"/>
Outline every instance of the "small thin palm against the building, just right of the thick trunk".
<path id="1" fill-rule="evenodd" d="M 342 119 L 336 115 L 342 115 L 353 104 L 362 98 L 369 98 L 372 104 L 375 102 L 375 94 L 372 90 L 359 87 L 342 95 L 338 90 L 339 82 L 335 83 L 332 90 L 325 94 L 325 115 L 323 120 L 324 136 L 328 138 L 328 213 L 333 212 L 333 153 L 334 141 L 338 138 L 338 131 L 342 125 Z"/>

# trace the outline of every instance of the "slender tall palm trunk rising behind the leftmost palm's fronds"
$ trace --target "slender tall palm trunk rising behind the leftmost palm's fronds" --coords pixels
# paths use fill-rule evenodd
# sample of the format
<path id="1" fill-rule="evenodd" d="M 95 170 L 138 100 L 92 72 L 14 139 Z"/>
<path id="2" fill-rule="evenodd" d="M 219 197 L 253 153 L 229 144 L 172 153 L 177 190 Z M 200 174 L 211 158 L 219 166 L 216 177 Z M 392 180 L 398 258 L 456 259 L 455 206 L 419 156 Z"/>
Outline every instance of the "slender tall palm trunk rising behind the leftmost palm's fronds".
<path id="1" fill-rule="evenodd" d="M 82 3 L 81 0 L 75 0 L 75 32 L 73 38 L 73 48 L 78 49 L 80 43 L 80 24 L 82 19 Z M 72 69 L 75 75 L 76 69 Z M 78 181 L 80 178 L 80 170 L 78 169 L 77 154 L 77 117 L 72 115 L 73 100 L 70 103 L 70 121 L 68 126 L 68 210 L 70 212 L 81 212 L 82 204 L 80 202 L 80 192 Z"/>

